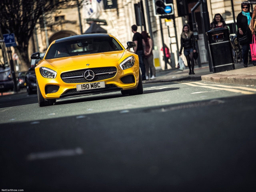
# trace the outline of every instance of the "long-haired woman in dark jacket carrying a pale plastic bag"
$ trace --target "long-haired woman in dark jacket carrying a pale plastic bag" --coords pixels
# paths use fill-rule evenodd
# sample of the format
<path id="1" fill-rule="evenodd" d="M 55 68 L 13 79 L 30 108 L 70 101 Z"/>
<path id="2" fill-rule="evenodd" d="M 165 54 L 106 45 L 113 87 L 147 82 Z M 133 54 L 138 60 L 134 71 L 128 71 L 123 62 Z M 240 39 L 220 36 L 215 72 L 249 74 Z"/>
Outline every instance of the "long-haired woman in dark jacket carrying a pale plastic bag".
<path id="1" fill-rule="evenodd" d="M 182 28 L 182 34 L 180 35 L 180 56 L 182 49 L 184 48 L 184 55 L 186 57 L 189 73 L 194 73 L 194 53 L 196 52 L 195 39 L 192 31 L 189 30 L 188 24 L 184 24 Z"/>

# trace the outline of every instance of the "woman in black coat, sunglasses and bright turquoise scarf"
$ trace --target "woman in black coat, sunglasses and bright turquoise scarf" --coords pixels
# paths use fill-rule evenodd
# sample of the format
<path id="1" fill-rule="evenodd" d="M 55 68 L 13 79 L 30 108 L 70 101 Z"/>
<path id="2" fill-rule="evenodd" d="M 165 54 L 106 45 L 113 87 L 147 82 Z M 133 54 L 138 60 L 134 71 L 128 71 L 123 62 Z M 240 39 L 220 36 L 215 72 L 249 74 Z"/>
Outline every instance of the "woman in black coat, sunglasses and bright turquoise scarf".
<path id="1" fill-rule="evenodd" d="M 250 10 L 250 3 L 243 1 L 241 3 L 242 11 L 236 17 L 237 25 L 237 38 L 239 44 L 242 46 L 242 60 L 244 67 L 248 67 L 248 52 L 250 44 L 252 43 L 252 31 L 249 28 L 252 20 L 252 12 Z M 256 61 L 252 61 L 252 64 L 256 64 Z"/>

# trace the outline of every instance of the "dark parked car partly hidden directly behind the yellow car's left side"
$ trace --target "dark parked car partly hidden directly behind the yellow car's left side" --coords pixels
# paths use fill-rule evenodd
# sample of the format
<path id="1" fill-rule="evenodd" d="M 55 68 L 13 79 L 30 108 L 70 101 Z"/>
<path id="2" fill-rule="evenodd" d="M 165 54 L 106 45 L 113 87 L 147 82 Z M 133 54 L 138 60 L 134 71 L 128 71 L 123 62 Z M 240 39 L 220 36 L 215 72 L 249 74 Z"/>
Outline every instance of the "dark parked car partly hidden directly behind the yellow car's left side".
<path id="1" fill-rule="evenodd" d="M 41 58 L 44 57 L 44 53 L 40 53 L 40 57 Z M 36 91 L 37 91 L 35 67 L 40 60 L 41 59 L 32 59 L 30 68 L 26 73 L 25 81 L 26 81 L 27 92 L 29 95 L 36 94 Z"/>

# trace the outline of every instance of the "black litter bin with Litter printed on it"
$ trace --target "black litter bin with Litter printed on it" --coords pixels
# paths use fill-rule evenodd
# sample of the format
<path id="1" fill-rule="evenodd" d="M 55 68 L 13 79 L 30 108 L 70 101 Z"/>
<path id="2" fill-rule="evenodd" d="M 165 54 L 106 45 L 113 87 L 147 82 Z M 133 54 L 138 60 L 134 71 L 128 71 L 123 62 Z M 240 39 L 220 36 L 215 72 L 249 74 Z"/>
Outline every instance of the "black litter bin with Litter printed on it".
<path id="1" fill-rule="evenodd" d="M 212 60 L 212 71 L 216 73 L 235 69 L 229 30 L 215 28 L 206 34 Z"/>

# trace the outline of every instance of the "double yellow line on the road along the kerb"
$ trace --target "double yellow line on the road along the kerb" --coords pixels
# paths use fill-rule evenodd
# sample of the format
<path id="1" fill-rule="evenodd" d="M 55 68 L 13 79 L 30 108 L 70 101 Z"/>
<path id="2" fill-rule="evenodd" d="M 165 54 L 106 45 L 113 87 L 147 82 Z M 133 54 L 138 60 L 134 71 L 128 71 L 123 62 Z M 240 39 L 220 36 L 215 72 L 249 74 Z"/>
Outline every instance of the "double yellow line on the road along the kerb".
<path id="1" fill-rule="evenodd" d="M 182 82 L 182 84 L 186 84 L 194 87 L 204 87 L 209 89 L 225 90 L 225 91 L 242 93 L 242 94 L 256 94 L 256 89 L 249 88 L 249 87 L 234 87 L 234 86 L 227 86 L 227 85 L 220 85 L 220 84 L 209 85 L 209 84 L 204 84 L 200 82 Z"/>

